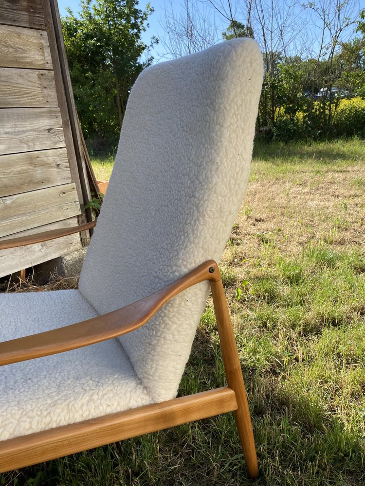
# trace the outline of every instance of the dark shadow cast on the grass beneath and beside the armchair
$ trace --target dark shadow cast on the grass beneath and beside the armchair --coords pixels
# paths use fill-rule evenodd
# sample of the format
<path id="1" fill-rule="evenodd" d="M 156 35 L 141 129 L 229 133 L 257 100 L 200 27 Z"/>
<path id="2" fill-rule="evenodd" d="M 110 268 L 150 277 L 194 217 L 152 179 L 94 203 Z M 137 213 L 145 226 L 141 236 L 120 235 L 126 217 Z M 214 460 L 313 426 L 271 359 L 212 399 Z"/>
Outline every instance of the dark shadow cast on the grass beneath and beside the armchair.
<path id="1" fill-rule="evenodd" d="M 180 394 L 222 386 L 210 317 L 200 327 Z M 212 329 L 207 329 L 212 326 Z M 246 376 L 260 474 L 247 477 L 233 414 L 181 425 L 0 476 L 3 485 L 360 486 L 361 437 L 333 411 L 269 373 Z M 281 384 L 280 384 L 281 380 Z"/>

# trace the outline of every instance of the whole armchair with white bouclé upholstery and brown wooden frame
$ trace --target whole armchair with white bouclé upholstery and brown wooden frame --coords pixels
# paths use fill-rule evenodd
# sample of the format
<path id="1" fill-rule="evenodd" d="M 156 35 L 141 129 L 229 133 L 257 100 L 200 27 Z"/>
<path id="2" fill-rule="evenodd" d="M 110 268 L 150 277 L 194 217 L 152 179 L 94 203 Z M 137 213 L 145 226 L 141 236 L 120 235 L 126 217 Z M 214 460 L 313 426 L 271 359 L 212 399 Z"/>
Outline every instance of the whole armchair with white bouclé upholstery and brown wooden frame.
<path id="1" fill-rule="evenodd" d="M 262 74 L 256 42 L 235 39 L 137 79 L 78 290 L 0 295 L 0 472 L 234 411 L 256 477 L 216 261 L 249 179 Z M 209 290 L 227 386 L 175 398 Z"/>

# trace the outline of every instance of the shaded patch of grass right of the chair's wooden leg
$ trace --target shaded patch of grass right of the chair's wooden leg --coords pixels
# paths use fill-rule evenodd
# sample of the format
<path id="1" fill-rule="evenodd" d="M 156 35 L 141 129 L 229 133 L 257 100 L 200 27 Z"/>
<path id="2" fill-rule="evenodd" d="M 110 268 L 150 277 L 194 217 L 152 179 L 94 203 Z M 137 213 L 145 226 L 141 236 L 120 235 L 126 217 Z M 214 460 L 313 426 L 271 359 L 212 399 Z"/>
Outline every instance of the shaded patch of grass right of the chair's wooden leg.
<path id="1" fill-rule="evenodd" d="M 332 411 L 273 382 L 253 400 L 262 474 L 257 484 L 363 484 L 364 440 Z"/>

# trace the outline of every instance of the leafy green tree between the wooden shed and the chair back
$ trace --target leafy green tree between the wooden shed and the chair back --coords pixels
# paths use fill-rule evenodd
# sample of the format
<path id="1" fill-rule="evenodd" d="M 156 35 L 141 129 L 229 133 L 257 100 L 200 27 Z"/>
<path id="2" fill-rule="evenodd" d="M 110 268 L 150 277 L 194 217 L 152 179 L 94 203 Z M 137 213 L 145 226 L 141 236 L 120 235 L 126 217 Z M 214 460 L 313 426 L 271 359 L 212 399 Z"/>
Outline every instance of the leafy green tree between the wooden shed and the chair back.
<path id="1" fill-rule="evenodd" d="M 87 137 L 119 133 L 130 88 L 152 61 L 141 34 L 153 9 L 137 5 L 137 0 L 81 0 L 78 16 L 68 9 L 62 18 L 75 104 Z"/>

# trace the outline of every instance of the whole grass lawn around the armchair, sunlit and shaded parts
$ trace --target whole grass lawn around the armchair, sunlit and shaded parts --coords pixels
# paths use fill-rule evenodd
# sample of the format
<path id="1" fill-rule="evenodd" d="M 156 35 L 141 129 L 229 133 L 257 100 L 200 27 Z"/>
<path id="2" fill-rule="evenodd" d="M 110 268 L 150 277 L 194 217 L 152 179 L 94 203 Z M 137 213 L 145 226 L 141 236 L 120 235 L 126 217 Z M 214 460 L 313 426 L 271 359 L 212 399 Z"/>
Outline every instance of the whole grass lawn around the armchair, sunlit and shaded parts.
<path id="1" fill-rule="evenodd" d="M 365 484 L 364 154 L 358 140 L 255 146 L 220 265 L 253 417 L 256 481 L 227 414 L 14 471 L 0 485 Z M 111 165 L 98 159 L 97 177 Z M 222 385 L 209 300 L 179 393 Z"/>

